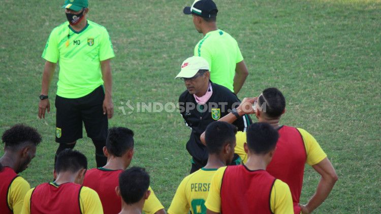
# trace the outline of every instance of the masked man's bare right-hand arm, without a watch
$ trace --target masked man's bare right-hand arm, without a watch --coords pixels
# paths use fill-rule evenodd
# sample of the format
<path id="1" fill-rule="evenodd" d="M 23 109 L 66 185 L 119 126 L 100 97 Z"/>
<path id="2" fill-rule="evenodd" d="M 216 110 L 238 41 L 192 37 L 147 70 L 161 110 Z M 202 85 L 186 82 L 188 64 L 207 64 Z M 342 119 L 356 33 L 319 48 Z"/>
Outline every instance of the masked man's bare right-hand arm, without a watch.
<path id="1" fill-rule="evenodd" d="M 112 103 L 112 76 L 110 59 L 101 61 L 102 78 L 105 84 L 105 99 L 103 101 L 103 114 L 107 113 L 107 118 L 111 119 L 114 114 L 114 104 Z"/>

